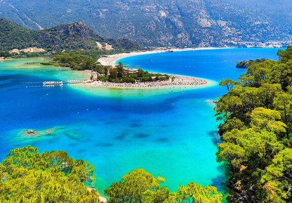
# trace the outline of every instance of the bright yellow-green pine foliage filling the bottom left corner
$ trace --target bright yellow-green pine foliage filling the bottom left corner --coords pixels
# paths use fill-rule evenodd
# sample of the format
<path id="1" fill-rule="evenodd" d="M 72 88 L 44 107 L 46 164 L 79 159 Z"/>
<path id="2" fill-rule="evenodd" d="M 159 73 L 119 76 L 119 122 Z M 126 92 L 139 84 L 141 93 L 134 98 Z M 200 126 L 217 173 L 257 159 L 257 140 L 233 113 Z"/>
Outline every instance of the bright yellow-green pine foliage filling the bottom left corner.
<path id="1" fill-rule="evenodd" d="M 39 153 L 31 146 L 11 150 L 0 164 L 1 202 L 99 202 L 93 166 L 64 151 Z"/>

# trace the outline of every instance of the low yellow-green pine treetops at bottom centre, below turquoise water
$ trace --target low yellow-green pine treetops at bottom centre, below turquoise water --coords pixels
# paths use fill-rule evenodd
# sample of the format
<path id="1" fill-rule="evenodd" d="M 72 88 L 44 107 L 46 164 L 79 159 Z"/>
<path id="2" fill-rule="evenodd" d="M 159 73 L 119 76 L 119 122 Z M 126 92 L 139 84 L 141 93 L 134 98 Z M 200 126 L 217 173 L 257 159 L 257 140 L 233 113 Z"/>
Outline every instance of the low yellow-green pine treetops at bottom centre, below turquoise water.
<path id="1" fill-rule="evenodd" d="M 190 182 L 187 186 L 179 186 L 177 192 L 169 193 L 169 189 L 161 186 L 163 177 L 155 178 L 142 168 L 129 172 L 122 180 L 104 189 L 110 203 L 220 203 L 222 194 L 213 186 L 201 187 Z"/>

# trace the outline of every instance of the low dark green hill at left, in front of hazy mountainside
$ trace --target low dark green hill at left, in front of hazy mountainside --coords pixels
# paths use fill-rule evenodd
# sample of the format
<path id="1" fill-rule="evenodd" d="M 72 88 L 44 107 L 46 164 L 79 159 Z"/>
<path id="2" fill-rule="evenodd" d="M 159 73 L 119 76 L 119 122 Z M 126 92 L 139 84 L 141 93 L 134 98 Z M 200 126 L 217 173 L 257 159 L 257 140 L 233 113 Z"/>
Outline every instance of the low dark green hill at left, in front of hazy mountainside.
<path id="1" fill-rule="evenodd" d="M 0 19 L 0 50 L 43 48 L 46 51 L 81 49 L 135 50 L 131 40 L 102 38 L 83 22 L 58 25 L 44 30 L 30 30 L 6 19 Z"/>

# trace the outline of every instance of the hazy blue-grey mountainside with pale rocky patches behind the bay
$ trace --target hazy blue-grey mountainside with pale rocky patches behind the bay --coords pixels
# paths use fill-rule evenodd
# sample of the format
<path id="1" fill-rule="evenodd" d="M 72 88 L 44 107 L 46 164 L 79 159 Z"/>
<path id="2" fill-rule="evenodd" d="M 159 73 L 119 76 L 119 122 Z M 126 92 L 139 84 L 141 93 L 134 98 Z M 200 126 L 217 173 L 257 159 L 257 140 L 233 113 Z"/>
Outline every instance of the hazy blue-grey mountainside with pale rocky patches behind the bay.
<path id="1" fill-rule="evenodd" d="M 180 47 L 291 41 L 291 9 L 290 0 L 0 1 L 0 17 L 28 28 L 82 21 L 100 36 Z"/>

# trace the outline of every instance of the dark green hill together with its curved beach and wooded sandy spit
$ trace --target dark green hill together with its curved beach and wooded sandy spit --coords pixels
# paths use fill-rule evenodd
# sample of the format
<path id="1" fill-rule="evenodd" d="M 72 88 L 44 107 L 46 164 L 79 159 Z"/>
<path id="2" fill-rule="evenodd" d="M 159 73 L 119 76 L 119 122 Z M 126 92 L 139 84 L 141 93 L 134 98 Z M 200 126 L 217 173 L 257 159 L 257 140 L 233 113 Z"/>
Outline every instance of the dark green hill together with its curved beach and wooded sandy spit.
<path id="1" fill-rule="evenodd" d="M 76 71 L 89 73 L 84 83 L 104 87 L 146 88 L 173 85 L 205 85 L 206 80 L 189 76 L 149 73 L 142 69 L 126 69 L 116 66 L 120 58 L 139 54 L 190 51 L 207 48 L 155 48 L 138 51 L 142 47 L 131 40 L 102 38 L 86 24 L 76 22 L 58 25 L 44 30 L 28 30 L 21 25 L 0 19 L 2 33 L 0 57 L 21 58 L 32 56 L 53 57 L 53 60 L 41 62 L 44 65 L 69 67 Z M 17 35 L 15 34 L 17 33 Z M 28 39 L 21 44 L 18 38 Z M 51 41 L 50 39 L 57 39 Z M 170 53 L 171 54 L 171 53 Z M 1 58 L 0 58 L 1 59 Z"/>

